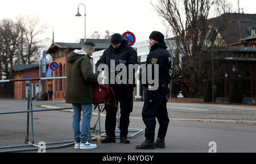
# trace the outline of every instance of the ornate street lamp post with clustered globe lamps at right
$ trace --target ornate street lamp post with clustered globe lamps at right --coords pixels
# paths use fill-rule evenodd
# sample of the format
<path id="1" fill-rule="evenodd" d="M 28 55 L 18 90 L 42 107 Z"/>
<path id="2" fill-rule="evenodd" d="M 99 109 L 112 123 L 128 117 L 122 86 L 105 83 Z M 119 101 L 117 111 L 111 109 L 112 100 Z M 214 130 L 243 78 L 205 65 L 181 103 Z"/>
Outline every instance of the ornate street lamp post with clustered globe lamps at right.
<path id="1" fill-rule="evenodd" d="M 212 54 L 212 102 L 214 102 L 214 53 L 218 51 L 218 48 L 222 47 L 222 42 L 220 39 L 217 39 L 215 44 L 212 44 L 212 41 L 205 40 L 204 44 L 207 48 L 207 51 Z"/>

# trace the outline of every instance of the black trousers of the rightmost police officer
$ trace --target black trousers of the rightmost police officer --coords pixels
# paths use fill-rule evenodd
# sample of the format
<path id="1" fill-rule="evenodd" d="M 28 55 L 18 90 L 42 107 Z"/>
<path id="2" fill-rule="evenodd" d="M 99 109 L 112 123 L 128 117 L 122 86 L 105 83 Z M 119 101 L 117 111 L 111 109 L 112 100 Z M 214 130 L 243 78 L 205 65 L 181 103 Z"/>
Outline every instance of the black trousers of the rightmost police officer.
<path id="1" fill-rule="evenodd" d="M 142 110 L 142 119 L 146 125 L 145 137 L 154 142 L 156 119 L 159 122 L 158 137 L 162 140 L 166 137 L 168 124 L 170 122 L 166 107 L 166 96 L 159 95 L 154 101 L 145 101 Z"/>

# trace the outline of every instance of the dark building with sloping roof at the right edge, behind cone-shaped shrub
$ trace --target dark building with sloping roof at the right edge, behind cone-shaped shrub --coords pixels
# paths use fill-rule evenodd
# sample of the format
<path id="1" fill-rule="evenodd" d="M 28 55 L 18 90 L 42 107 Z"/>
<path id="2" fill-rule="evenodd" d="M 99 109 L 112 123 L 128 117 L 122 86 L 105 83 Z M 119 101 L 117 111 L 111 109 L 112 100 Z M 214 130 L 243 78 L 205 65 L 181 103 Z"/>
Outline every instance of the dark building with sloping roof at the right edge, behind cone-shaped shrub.
<path id="1" fill-rule="evenodd" d="M 216 72 L 216 95 L 229 95 L 236 74 L 243 97 L 256 97 L 256 14 L 222 14 L 213 19 L 213 27 L 209 38 L 224 42 L 214 57 L 225 68 Z"/>

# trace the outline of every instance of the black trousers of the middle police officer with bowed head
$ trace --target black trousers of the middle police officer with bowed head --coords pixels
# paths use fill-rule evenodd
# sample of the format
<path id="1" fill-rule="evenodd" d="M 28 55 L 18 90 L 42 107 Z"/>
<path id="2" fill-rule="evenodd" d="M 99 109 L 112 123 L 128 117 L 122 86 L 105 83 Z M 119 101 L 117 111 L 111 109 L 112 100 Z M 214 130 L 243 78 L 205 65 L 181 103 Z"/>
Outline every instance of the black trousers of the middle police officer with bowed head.
<path id="1" fill-rule="evenodd" d="M 133 111 L 133 87 L 114 85 L 113 90 L 117 102 L 120 103 L 119 129 L 120 137 L 126 137 L 130 123 L 130 113 Z M 117 107 L 106 107 L 105 130 L 106 135 L 115 138 L 115 126 L 117 123 Z"/>

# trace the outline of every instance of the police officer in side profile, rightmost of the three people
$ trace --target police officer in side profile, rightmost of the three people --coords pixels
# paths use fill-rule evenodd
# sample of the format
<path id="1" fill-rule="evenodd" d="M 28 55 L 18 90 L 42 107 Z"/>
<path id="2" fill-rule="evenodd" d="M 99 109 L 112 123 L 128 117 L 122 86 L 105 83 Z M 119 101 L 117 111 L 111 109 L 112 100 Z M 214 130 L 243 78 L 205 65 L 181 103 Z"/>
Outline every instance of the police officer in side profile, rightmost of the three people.
<path id="1" fill-rule="evenodd" d="M 150 54 L 147 56 L 146 70 L 148 72 L 148 64 L 152 65 L 152 77 L 154 77 L 154 66 L 159 66 L 159 87 L 157 90 L 150 90 L 152 85 L 146 85 L 147 90 L 144 95 L 144 105 L 142 110 L 142 119 L 146 125 L 146 140 L 141 145 L 137 145 L 136 149 L 155 149 L 165 148 L 164 138 L 169 124 L 167 113 L 167 95 L 169 92 L 169 83 L 172 78 L 173 59 L 167 51 L 166 43 L 164 43 L 164 35 L 158 31 L 150 34 Z M 155 140 L 156 119 L 159 122 L 158 137 Z"/>

